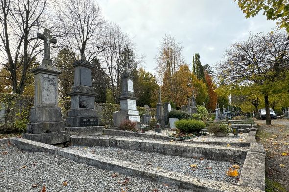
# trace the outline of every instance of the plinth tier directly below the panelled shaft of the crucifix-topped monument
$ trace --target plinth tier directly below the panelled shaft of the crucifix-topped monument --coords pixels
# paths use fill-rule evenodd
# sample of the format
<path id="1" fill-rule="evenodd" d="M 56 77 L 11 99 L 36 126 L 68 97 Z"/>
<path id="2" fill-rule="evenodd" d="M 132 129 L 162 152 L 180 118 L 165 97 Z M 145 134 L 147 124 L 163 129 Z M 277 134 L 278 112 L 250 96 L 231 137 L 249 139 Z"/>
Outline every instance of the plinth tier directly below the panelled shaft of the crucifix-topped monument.
<path id="1" fill-rule="evenodd" d="M 32 107 L 31 123 L 62 121 L 60 107 Z"/>

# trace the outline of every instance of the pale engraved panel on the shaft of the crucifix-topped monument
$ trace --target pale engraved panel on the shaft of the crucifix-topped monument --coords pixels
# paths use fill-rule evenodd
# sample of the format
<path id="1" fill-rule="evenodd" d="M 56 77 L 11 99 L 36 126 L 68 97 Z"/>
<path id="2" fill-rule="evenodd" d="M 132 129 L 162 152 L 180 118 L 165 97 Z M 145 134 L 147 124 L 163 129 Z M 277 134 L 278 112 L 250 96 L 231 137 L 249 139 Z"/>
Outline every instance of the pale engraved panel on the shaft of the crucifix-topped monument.
<path id="1" fill-rule="evenodd" d="M 41 77 L 42 81 L 42 102 L 54 104 L 56 102 L 56 79 L 50 77 Z"/>

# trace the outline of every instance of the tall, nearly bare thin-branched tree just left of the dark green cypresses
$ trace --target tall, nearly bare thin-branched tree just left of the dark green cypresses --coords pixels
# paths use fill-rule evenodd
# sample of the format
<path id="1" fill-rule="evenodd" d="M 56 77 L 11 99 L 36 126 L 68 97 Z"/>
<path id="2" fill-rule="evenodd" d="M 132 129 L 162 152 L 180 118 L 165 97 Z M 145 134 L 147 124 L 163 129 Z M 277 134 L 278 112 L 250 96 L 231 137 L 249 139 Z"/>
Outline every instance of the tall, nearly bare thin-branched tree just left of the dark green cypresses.
<path id="1" fill-rule="evenodd" d="M 165 35 L 158 49 L 155 60 L 157 62 L 156 72 L 159 81 L 162 82 L 166 73 L 170 86 L 173 86 L 172 77 L 180 69 L 180 66 L 185 64 L 182 56 L 183 47 L 181 43 L 176 42 L 173 36 Z"/>

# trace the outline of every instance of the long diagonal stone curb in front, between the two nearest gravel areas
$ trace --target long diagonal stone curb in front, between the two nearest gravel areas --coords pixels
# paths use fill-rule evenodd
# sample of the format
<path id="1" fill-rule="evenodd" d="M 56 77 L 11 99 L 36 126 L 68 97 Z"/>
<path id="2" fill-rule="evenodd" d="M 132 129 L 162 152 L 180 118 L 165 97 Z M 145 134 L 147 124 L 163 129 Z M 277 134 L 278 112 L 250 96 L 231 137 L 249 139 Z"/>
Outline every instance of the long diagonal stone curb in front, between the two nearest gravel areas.
<path id="1" fill-rule="evenodd" d="M 176 185 L 179 188 L 193 190 L 194 192 L 263 192 L 255 187 L 236 186 L 223 182 L 200 179 L 177 172 L 157 169 L 132 162 L 117 160 L 96 154 L 85 153 L 73 149 L 55 147 L 49 144 L 30 141 L 23 138 L 9 138 L 16 147 L 31 152 L 49 152 L 72 159 L 79 163 L 96 166 L 100 169 L 120 172 L 130 176 L 145 178 L 159 183 Z"/>

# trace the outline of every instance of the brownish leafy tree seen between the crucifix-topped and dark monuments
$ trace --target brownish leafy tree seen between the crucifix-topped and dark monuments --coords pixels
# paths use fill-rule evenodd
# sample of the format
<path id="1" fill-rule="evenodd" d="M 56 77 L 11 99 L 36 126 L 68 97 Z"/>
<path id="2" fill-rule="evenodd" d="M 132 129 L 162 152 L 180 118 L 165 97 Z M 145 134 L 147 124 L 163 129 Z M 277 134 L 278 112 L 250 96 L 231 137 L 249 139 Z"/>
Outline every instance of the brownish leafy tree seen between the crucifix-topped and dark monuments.
<path id="1" fill-rule="evenodd" d="M 66 48 L 62 48 L 55 59 L 56 67 L 61 71 L 59 75 L 59 95 L 62 99 L 68 97 L 74 81 L 74 57 Z"/>

